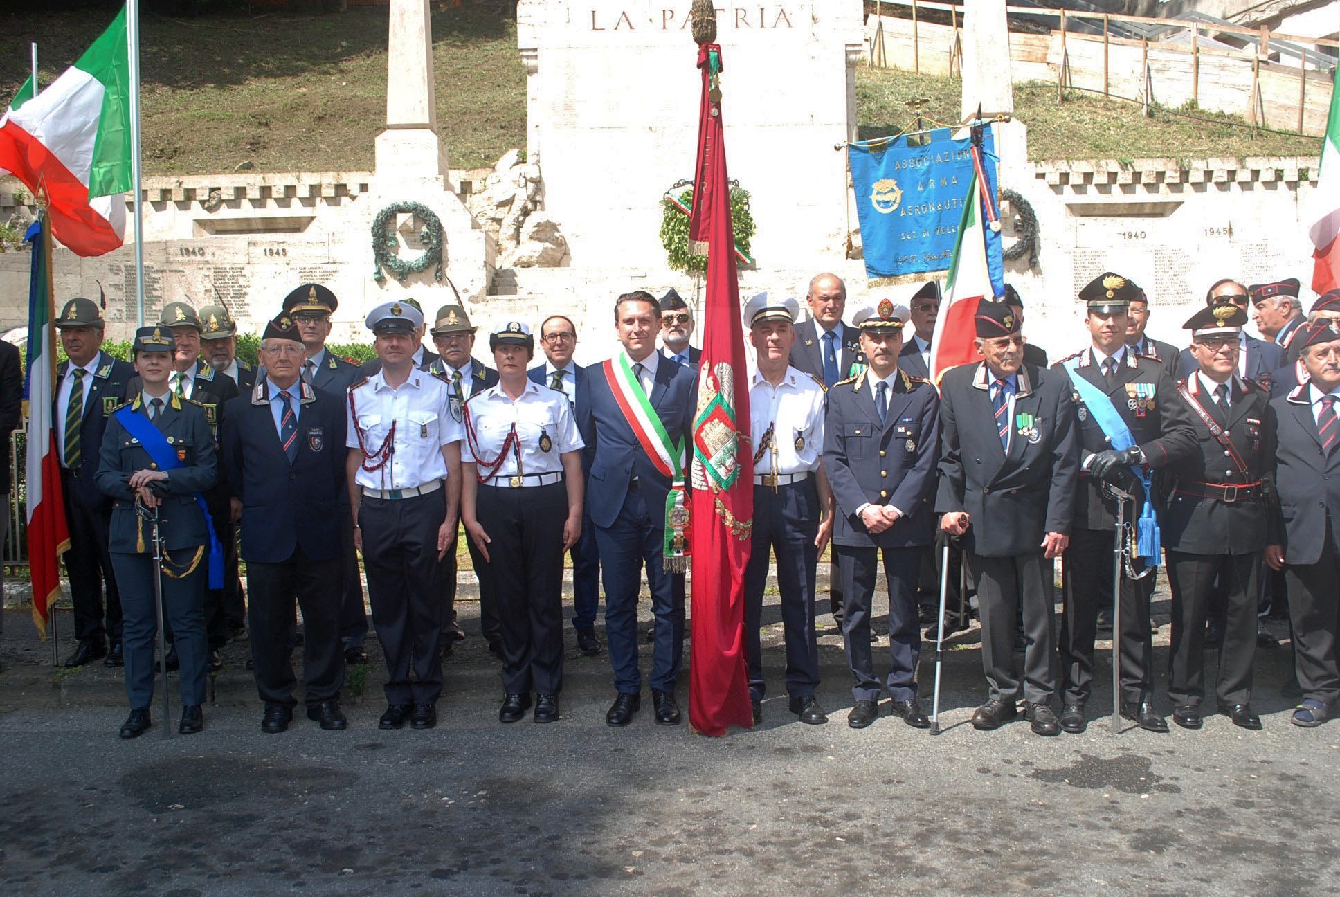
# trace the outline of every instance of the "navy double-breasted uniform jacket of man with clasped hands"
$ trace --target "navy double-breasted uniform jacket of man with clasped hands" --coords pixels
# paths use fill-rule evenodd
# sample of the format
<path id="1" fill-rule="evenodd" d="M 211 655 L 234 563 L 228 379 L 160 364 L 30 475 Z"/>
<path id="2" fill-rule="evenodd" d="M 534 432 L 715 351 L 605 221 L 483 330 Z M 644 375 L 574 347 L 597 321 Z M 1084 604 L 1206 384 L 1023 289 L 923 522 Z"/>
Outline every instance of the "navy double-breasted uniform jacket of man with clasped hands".
<path id="1" fill-rule="evenodd" d="M 939 460 L 939 397 L 906 373 L 888 397 L 879 424 L 868 371 L 833 383 L 824 418 L 824 471 L 838 501 L 833 543 L 860 548 L 906 548 L 934 542 L 931 499 Z M 880 534 L 866 530 L 856 508 L 891 504 L 903 518 Z"/>

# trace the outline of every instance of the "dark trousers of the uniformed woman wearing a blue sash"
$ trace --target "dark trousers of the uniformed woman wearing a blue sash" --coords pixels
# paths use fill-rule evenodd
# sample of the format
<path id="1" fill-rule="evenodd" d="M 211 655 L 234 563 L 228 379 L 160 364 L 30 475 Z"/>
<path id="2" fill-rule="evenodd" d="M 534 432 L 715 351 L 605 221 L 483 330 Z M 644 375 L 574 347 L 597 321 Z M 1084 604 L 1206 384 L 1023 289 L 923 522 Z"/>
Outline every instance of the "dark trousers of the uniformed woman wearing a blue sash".
<path id="1" fill-rule="evenodd" d="M 185 560 L 194 548 L 173 548 L 172 556 Z M 147 708 L 154 700 L 154 648 L 158 640 L 158 611 L 154 610 L 154 559 L 149 554 L 111 552 L 111 567 L 121 593 L 121 645 L 126 657 L 126 699 L 131 709 Z M 205 703 L 205 575 L 209 559 L 181 579 L 163 575 L 163 619 L 173 633 L 181 662 L 181 703 Z"/>

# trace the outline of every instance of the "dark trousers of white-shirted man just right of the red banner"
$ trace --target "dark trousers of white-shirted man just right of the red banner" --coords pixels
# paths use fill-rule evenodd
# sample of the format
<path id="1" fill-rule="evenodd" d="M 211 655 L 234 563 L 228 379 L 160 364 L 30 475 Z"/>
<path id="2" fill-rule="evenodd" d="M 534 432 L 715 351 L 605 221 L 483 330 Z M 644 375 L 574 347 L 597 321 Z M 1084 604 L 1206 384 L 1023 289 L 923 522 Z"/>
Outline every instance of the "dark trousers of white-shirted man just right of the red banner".
<path id="1" fill-rule="evenodd" d="M 787 693 L 812 696 L 819 685 L 819 646 L 815 644 L 815 564 L 819 550 L 819 491 L 815 477 L 770 487 L 754 485 L 753 547 L 745 567 L 745 649 L 749 695 L 762 700 L 762 591 L 768 558 L 777 555 L 777 590 L 787 638 Z"/>

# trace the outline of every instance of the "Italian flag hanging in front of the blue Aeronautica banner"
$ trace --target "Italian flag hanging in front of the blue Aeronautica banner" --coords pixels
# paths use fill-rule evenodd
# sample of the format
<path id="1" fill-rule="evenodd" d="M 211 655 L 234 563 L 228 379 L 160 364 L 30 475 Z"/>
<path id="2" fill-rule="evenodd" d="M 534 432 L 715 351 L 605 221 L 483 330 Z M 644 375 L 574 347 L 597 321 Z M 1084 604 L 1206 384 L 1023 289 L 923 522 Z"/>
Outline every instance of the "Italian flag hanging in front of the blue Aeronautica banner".
<path id="1" fill-rule="evenodd" d="M 1000 228 L 990 227 L 998 221 L 993 201 L 996 190 L 976 143 L 972 153 L 973 181 L 963 198 L 954 259 L 945 282 L 945 300 L 930 341 L 930 381 L 935 385 L 939 385 L 939 378 L 950 367 L 969 365 L 980 358 L 973 345 L 977 337 L 973 320 L 977 306 L 984 299 L 992 300 L 1005 292 Z"/>

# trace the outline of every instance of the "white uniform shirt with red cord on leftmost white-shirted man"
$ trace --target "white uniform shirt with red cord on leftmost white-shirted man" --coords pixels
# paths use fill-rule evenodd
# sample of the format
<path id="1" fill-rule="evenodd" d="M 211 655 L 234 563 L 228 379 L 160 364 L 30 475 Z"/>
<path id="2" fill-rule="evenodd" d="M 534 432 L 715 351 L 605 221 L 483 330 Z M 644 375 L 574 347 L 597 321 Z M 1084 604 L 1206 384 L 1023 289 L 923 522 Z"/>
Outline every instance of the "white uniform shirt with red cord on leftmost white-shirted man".
<path id="1" fill-rule="evenodd" d="M 460 441 L 461 424 L 448 406 L 450 387 L 422 370 L 411 370 L 409 379 L 391 389 L 382 371 L 351 386 L 352 408 L 347 413 L 348 437 L 344 445 L 377 452 L 395 424 L 391 459 L 377 471 L 359 465 L 355 481 L 373 489 L 413 489 L 433 480 L 446 479 L 442 446 Z M 370 461 L 377 464 L 381 457 Z"/>

